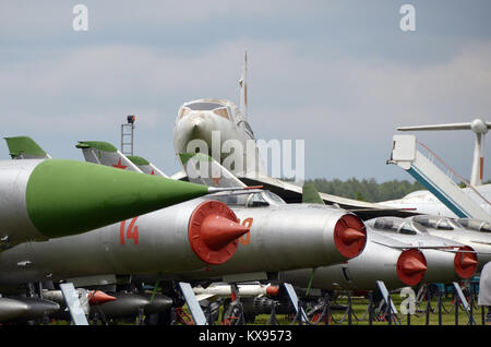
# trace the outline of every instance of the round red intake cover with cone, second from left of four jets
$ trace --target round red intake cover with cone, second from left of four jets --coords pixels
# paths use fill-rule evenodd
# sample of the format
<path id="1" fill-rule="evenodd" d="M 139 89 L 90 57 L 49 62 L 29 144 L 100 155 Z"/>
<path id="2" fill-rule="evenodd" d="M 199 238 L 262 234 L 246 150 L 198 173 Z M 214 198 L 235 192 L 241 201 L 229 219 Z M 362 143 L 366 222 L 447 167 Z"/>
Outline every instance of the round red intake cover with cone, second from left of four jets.
<path id="1" fill-rule="evenodd" d="M 344 256 L 351 259 L 361 253 L 367 243 L 367 229 L 355 215 L 344 215 L 334 227 L 334 243 Z"/>

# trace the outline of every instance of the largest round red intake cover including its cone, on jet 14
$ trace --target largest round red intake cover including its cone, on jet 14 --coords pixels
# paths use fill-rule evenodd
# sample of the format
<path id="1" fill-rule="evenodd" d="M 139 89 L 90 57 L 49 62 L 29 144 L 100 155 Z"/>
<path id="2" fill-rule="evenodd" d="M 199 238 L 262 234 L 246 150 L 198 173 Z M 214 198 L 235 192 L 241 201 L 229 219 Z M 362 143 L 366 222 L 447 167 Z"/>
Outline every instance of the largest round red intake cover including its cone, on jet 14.
<path id="1" fill-rule="evenodd" d="M 212 265 L 228 261 L 237 250 L 239 237 L 249 231 L 238 224 L 233 211 L 219 201 L 205 201 L 192 213 L 188 236 L 191 249 Z"/>

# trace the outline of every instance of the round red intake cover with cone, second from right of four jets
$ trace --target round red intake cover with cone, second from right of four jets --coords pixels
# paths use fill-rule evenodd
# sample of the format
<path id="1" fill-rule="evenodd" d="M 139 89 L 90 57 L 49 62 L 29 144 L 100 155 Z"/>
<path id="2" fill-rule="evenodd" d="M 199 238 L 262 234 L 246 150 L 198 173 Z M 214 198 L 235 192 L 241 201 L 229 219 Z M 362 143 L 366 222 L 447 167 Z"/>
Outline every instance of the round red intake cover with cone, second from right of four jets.
<path id="1" fill-rule="evenodd" d="M 417 249 L 402 252 L 397 260 L 397 276 L 408 286 L 420 283 L 427 273 L 427 260 L 423 253 Z"/>

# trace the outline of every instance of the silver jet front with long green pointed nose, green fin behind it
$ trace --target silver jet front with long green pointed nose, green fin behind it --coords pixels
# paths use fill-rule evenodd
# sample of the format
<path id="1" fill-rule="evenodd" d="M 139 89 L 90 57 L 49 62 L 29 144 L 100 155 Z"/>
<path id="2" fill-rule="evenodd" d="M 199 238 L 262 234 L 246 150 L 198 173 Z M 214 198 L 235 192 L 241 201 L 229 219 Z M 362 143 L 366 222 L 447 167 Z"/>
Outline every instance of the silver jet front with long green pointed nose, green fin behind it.
<path id="1" fill-rule="evenodd" d="M 0 161 L 0 249 L 86 232 L 216 191 L 50 159 L 27 137 L 5 140 L 14 160 Z"/>

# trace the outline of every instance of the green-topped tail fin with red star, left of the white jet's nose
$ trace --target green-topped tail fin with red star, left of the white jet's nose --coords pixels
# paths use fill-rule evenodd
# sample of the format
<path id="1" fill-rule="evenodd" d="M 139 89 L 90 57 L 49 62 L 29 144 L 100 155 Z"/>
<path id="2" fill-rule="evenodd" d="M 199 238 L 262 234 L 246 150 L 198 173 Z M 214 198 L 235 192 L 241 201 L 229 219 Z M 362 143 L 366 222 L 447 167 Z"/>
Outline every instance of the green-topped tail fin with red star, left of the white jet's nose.
<path id="1" fill-rule="evenodd" d="M 82 149 L 85 161 L 143 174 L 124 154 L 108 142 L 79 141 L 75 147 Z"/>

